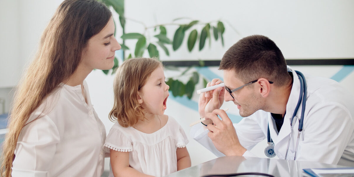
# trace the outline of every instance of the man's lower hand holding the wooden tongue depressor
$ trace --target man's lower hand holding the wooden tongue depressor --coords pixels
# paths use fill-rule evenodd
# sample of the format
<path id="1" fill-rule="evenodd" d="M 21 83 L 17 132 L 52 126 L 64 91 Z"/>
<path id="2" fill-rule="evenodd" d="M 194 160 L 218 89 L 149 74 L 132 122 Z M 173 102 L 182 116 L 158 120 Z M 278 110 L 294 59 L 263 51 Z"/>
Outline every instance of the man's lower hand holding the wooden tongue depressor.
<path id="1" fill-rule="evenodd" d="M 219 115 L 222 120 L 218 118 Z M 207 113 L 205 119 L 213 121 L 214 125 L 207 126 L 208 136 L 215 145 L 216 149 L 226 156 L 238 155 L 242 156 L 246 152 L 246 148 L 242 147 L 232 121 L 224 110 L 215 109 L 212 113 Z"/>

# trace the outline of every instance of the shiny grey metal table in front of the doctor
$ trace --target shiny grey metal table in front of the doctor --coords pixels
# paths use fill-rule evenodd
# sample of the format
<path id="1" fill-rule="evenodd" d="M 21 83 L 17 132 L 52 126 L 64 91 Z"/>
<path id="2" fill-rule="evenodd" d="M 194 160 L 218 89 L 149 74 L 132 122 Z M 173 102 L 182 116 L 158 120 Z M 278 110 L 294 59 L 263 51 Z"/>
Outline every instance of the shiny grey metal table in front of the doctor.
<path id="1" fill-rule="evenodd" d="M 177 171 L 175 173 L 171 173 L 166 177 L 199 177 L 210 174 L 215 175 L 242 172 L 268 173 L 276 177 L 307 177 L 309 175 L 303 172 L 302 169 L 335 167 L 343 166 L 323 164 L 319 162 L 254 158 L 243 156 L 224 156 L 196 166 L 189 167 L 187 169 Z"/>

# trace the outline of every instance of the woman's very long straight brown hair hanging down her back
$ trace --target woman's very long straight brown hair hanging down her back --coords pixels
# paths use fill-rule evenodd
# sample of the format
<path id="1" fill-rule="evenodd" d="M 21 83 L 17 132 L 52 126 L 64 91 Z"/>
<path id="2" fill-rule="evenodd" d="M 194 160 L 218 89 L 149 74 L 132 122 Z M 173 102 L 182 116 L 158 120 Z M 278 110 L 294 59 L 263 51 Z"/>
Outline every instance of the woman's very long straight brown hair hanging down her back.
<path id="1" fill-rule="evenodd" d="M 1 176 L 11 176 L 18 136 L 30 123 L 32 112 L 75 72 L 87 41 L 105 27 L 111 16 L 107 6 L 96 0 L 65 0 L 57 8 L 17 86 L 3 145 Z"/>

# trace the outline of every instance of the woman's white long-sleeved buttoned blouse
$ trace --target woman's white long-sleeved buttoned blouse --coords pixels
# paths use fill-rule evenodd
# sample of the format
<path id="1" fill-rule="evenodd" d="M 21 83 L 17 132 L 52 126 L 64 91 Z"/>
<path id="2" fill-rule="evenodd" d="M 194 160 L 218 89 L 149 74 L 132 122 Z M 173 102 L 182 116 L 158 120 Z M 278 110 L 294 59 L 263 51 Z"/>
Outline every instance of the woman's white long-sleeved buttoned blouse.
<path id="1" fill-rule="evenodd" d="M 32 113 L 30 120 L 42 117 L 26 125 L 19 135 L 13 177 L 102 175 L 106 132 L 91 104 L 86 81 L 84 90 L 87 104 L 81 85 L 60 84 Z"/>

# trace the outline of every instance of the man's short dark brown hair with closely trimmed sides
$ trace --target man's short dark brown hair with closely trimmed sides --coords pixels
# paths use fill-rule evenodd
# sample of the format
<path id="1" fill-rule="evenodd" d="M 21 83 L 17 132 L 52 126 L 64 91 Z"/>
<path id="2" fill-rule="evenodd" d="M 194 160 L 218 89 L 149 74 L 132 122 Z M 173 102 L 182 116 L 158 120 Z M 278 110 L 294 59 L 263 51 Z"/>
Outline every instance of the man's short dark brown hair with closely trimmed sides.
<path id="1" fill-rule="evenodd" d="M 221 59 L 219 70 L 234 70 L 245 83 L 259 78 L 285 85 L 290 75 L 278 46 L 266 36 L 247 36 L 230 47 Z"/>

